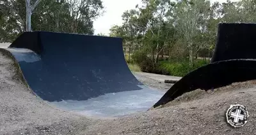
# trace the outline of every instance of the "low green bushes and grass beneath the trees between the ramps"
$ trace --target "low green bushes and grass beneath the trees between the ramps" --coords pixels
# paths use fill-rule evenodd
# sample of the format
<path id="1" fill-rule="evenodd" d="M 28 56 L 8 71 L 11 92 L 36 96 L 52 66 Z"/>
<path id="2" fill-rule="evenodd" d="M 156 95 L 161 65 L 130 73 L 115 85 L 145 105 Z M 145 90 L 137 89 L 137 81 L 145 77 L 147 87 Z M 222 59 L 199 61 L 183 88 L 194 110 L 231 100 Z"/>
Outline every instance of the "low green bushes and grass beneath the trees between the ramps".
<path id="1" fill-rule="evenodd" d="M 164 75 L 174 75 L 183 77 L 192 70 L 209 64 L 209 59 L 197 59 L 194 61 L 193 66 L 189 65 L 189 58 L 184 59 L 171 59 L 171 58 L 160 58 L 155 64 L 150 57 L 144 51 L 137 51 L 131 55 L 130 61 L 128 61 L 128 56 L 125 59 L 129 65 L 138 65 L 138 68 L 142 72 L 150 72 L 156 74 Z M 131 69 L 131 68 L 130 68 Z M 132 70 L 132 69 L 131 69 Z"/>

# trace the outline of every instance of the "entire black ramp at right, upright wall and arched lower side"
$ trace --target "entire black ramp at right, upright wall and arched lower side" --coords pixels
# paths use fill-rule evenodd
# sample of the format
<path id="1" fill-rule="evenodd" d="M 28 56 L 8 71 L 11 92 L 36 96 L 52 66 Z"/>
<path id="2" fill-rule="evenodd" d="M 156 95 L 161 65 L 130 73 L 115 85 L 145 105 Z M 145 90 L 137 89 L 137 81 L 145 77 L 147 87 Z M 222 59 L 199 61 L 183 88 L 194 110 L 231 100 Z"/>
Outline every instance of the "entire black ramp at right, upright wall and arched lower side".
<path id="1" fill-rule="evenodd" d="M 256 24 L 219 24 L 211 63 L 182 77 L 153 107 L 196 89 L 209 90 L 256 79 L 255 51 Z"/>

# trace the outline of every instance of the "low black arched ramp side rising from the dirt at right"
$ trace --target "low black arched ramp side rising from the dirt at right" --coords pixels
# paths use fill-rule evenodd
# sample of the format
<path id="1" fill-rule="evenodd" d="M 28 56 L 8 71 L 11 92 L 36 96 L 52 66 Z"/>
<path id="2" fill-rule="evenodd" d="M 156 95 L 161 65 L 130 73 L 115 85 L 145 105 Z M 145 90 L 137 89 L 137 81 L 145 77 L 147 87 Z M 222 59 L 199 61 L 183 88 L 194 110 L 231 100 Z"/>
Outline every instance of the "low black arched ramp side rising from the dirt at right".
<path id="1" fill-rule="evenodd" d="M 241 65 L 241 63 L 245 64 L 245 66 Z M 230 67 L 230 65 L 235 65 L 235 66 Z M 241 65 L 241 66 L 237 66 L 237 65 Z M 225 72 L 230 70 L 232 72 Z M 225 75 L 216 74 L 218 73 L 218 71 L 225 73 L 225 75 L 227 74 L 230 75 L 233 73 L 233 71 L 240 71 L 240 72 L 237 73 L 237 76 L 235 74 L 234 75 L 235 77 L 228 76 L 227 78 L 229 78 L 229 80 L 222 82 L 221 80 L 223 80 L 223 77 L 225 77 Z M 253 71 L 252 74 L 249 74 L 250 71 Z M 211 78 L 211 75 L 213 75 L 212 78 Z M 202 78 L 202 80 L 200 80 L 200 77 Z M 194 81 L 194 79 L 197 79 L 197 80 Z M 190 91 L 194 91 L 197 89 L 206 91 L 206 90 L 210 90 L 212 87 L 221 88 L 223 86 L 228 86 L 229 84 L 232 84 L 232 83 L 250 81 L 253 79 L 256 79 L 256 60 L 240 59 L 240 60 L 226 60 L 226 61 L 218 61 L 218 62 L 210 63 L 209 65 L 205 65 L 204 67 L 197 68 L 196 70 L 193 70 L 192 72 L 189 72 L 189 74 L 182 77 L 182 79 L 177 81 L 177 83 L 173 84 L 173 86 L 163 95 L 163 97 L 158 102 L 156 102 L 156 104 L 154 104 L 154 106 L 152 106 L 152 108 L 156 108 L 164 104 L 167 104 L 168 102 L 171 102 L 172 100 L 176 99 L 180 95 L 183 95 L 184 93 L 187 93 Z M 202 83 L 197 83 L 197 81 L 202 81 Z M 204 84 L 207 82 L 209 84 Z"/>

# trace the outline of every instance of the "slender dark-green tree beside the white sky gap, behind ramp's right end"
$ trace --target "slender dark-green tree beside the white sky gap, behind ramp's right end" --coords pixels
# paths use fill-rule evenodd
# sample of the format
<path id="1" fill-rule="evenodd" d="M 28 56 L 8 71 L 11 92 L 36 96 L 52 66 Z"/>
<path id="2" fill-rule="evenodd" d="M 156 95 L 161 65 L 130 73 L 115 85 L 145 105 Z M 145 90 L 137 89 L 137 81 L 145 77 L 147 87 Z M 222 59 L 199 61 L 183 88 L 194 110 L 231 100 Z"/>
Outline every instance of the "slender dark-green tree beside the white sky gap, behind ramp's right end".
<path id="1" fill-rule="evenodd" d="M 166 0 L 143 0 L 143 4 L 142 7 L 137 6 L 140 10 L 138 21 L 143 33 L 144 46 L 150 50 L 153 63 L 157 63 L 159 54 L 168 45 L 166 43 L 173 34 L 173 26 L 166 20 L 172 15 L 174 3 Z"/>

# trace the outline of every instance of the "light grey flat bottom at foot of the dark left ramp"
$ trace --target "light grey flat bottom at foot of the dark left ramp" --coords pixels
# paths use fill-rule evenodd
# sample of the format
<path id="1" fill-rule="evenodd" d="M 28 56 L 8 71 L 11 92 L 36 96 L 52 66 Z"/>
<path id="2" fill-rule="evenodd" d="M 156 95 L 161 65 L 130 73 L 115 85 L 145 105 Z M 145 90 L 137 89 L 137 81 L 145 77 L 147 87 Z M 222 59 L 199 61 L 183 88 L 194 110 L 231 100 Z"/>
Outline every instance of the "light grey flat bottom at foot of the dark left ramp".
<path id="1" fill-rule="evenodd" d="M 164 95 L 162 91 L 140 87 L 143 90 L 106 93 L 88 100 L 63 100 L 50 104 L 86 116 L 121 117 L 147 111 Z"/>

